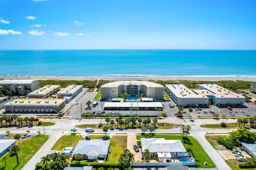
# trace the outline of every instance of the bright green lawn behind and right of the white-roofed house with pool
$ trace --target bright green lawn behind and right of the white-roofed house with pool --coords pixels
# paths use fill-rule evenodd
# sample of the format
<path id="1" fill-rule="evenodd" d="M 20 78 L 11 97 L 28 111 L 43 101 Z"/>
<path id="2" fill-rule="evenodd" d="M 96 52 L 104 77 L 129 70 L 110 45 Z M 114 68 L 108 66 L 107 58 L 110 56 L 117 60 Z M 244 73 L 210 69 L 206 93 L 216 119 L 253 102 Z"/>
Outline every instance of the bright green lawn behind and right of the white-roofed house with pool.
<path id="1" fill-rule="evenodd" d="M 193 138 L 192 136 L 187 136 L 190 142 L 184 142 L 182 139 L 182 136 L 171 136 L 171 135 L 154 135 L 153 138 L 165 138 L 165 139 L 178 139 L 181 140 L 183 146 L 185 148 L 191 148 L 194 154 L 196 155 L 196 167 L 197 168 L 214 168 L 216 165 L 212 162 L 208 154 L 204 151 L 202 146 L 198 143 L 198 141 Z M 140 140 L 140 138 L 143 138 L 142 135 L 138 135 L 137 139 Z M 204 162 L 208 162 L 209 166 L 204 165 Z"/>

